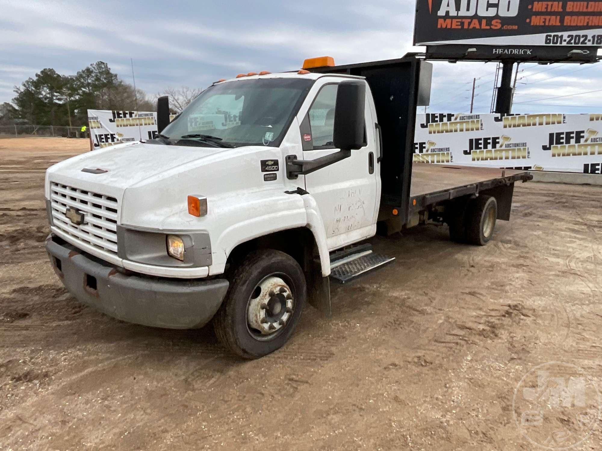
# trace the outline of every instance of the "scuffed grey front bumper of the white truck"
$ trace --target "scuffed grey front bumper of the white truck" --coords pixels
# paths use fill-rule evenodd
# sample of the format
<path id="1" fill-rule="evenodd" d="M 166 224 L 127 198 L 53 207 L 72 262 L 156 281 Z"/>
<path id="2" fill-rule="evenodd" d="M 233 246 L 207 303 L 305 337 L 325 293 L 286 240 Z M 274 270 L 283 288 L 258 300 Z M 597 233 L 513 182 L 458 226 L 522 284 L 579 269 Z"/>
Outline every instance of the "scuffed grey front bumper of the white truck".
<path id="1" fill-rule="evenodd" d="M 125 275 L 115 266 L 51 235 L 46 251 L 67 290 L 83 304 L 122 321 L 167 329 L 207 324 L 222 304 L 228 280 L 173 280 Z"/>

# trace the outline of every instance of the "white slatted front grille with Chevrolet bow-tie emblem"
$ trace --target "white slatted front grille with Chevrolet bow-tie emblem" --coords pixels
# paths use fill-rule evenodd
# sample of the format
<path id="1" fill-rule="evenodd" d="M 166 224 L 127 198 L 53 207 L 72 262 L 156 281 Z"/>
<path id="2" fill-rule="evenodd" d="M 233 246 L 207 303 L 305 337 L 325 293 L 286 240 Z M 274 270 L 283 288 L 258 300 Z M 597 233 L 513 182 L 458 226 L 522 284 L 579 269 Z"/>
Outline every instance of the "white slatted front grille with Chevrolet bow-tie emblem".
<path id="1" fill-rule="evenodd" d="M 117 199 L 98 192 L 51 182 L 50 197 L 55 227 L 73 238 L 117 254 Z M 84 214 L 84 223 L 73 224 L 65 216 L 67 207 Z"/>

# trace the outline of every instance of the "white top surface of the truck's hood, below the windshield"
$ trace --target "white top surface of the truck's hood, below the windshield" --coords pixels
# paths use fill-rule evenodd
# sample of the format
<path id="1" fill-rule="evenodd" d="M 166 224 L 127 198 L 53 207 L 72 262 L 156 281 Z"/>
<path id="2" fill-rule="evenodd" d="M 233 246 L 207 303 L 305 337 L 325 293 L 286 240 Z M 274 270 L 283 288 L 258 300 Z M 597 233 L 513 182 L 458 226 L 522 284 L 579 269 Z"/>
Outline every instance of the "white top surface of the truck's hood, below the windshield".
<path id="1" fill-rule="evenodd" d="M 123 191 L 170 169 L 228 150 L 232 149 L 125 144 L 67 159 L 49 168 L 48 174 L 60 177 L 62 183 L 65 183 L 63 180 L 80 180 L 87 186 L 101 184 Z M 82 172 L 83 169 L 106 172 L 92 174 Z"/>

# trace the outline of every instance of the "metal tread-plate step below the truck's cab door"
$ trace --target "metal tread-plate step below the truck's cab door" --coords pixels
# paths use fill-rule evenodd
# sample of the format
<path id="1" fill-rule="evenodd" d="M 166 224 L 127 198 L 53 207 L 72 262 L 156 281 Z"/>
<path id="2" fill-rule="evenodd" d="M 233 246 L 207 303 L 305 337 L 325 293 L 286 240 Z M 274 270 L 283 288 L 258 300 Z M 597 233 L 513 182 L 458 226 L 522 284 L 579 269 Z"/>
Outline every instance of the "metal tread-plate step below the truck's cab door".
<path id="1" fill-rule="evenodd" d="M 373 253 L 370 244 L 352 246 L 330 256 L 330 278 L 338 283 L 347 283 L 393 260 L 395 257 Z"/>

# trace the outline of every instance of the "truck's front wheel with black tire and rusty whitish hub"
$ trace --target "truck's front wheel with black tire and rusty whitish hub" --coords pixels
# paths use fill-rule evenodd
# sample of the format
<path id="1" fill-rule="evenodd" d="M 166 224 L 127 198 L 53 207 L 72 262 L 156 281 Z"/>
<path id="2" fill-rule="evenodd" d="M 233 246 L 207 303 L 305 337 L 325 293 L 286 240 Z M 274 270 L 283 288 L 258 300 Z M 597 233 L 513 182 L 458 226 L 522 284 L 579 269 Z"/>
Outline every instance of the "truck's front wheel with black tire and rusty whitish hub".
<path id="1" fill-rule="evenodd" d="M 243 358 L 281 348 L 293 334 L 305 305 L 305 275 L 293 257 L 264 249 L 234 270 L 228 294 L 214 318 L 220 342 Z"/>

